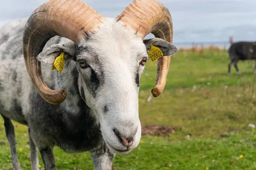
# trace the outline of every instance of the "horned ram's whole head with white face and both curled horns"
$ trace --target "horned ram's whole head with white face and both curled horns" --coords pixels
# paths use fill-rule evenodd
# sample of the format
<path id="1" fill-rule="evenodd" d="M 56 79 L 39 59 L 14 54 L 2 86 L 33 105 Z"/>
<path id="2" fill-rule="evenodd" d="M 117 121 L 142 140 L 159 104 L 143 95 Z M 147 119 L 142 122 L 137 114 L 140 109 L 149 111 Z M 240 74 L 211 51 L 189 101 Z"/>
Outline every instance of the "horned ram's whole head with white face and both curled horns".
<path id="1" fill-rule="evenodd" d="M 149 33 L 156 38 L 143 40 Z M 69 42 L 42 51 L 55 35 Z M 80 0 L 50 0 L 31 14 L 23 33 L 26 68 L 41 97 L 58 105 L 68 95 L 61 85 L 63 90 L 50 89 L 41 73 L 41 62 L 52 64 L 63 51 L 75 63 L 80 95 L 115 153 L 128 153 L 140 141 L 138 91 L 151 45 L 164 55 L 158 59 L 152 90 L 156 97 L 166 84 L 170 56 L 178 50 L 172 45 L 171 15 L 156 0 L 135 0 L 116 19 L 103 17 Z"/>

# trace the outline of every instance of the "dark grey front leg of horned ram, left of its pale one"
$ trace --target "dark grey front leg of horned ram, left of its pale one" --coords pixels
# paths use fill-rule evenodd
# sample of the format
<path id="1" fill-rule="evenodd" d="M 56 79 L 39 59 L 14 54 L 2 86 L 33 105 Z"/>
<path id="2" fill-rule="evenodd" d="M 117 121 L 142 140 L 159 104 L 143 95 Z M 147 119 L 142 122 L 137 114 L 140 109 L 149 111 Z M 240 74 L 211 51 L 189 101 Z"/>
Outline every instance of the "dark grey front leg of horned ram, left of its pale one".
<path id="1" fill-rule="evenodd" d="M 45 170 L 57 170 L 53 155 L 53 147 L 48 146 L 45 148 L 39 148 L 39 151 L 44 162 Z"/>

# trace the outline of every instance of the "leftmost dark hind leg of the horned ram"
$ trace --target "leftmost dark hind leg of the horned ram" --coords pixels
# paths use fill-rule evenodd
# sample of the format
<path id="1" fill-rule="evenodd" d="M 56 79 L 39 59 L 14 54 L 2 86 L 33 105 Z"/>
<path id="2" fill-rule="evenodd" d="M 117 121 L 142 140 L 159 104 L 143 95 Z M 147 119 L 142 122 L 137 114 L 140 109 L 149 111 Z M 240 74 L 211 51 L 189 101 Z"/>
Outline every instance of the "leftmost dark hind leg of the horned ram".
<path id="1" fill-rule="evenodd" d="M 2 114 L 1 114 L 1 116 L 3 117 L 3 120 L 4 120 L 4 127 L 5 127 L 5 130 L 6 130 L 6 137 L 9 141 L 10 148 L 11 148 L 13 170 L 22 170 L 21 167 L 20 167 L 19 159 L 18 159 L 17 152 L 16 152 L 14 126 L 12 125 L 11 119 L 3 116 Z"/>

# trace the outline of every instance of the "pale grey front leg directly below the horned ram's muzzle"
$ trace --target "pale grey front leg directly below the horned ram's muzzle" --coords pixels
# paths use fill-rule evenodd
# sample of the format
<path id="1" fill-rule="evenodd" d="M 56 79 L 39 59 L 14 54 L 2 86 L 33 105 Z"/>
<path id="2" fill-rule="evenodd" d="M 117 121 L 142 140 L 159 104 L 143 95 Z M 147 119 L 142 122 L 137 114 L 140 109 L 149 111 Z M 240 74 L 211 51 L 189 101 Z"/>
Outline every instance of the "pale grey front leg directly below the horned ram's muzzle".
<path id="1" fill-rule="evenodd" d="M 111 170 L 114 154 L 106 145 L 90 152 L 95 170 Z"/>

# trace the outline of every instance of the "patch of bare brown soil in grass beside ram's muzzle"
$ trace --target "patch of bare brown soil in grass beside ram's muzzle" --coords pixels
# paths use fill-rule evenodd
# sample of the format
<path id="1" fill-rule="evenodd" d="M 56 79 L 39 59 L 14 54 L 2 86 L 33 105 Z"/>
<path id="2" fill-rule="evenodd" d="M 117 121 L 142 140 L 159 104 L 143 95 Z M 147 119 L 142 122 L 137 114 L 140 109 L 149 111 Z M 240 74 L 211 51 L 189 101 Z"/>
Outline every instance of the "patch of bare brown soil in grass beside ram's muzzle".
<path id="1" fill-rule="evenodd" d="M 142 127 L 142 135 L 151 136 L 169 136 L 171 133 L 176 133 L 174 127 L 163 125 L 147 125 Z"/>

